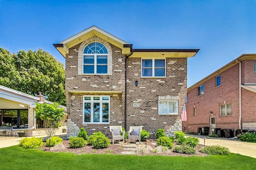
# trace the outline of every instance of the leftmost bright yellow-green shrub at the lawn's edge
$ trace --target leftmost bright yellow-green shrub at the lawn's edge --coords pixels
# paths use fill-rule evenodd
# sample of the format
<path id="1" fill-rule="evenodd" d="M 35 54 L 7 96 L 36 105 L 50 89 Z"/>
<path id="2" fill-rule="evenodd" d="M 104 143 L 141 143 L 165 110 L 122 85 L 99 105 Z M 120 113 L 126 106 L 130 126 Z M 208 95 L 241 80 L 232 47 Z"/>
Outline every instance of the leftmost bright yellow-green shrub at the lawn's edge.
<path id="1" fill-rule="evenodd" d="M 19 146 L 26 149 L 40 148 L 44 145 L 43 139 L 38 137 L 24 138 L 20 141 Z"/>

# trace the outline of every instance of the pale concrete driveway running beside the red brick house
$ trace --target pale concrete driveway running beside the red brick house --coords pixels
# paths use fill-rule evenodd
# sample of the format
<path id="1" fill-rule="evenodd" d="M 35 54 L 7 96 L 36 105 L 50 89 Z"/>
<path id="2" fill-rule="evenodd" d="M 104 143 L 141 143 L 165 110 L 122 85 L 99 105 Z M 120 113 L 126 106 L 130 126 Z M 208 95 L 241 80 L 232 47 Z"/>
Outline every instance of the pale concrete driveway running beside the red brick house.
<path id="1" fill-rule="evenodd" d="M 191 135 L 187 135 L 191 136 Z M 214 138 L 202 135 L 193 135 L 199 138 L 199 143 L 204 145 L 220 145 L 229 148 L 230 152 L 256 158 L 256 143 L 242 142 L 238 139 Z"/>

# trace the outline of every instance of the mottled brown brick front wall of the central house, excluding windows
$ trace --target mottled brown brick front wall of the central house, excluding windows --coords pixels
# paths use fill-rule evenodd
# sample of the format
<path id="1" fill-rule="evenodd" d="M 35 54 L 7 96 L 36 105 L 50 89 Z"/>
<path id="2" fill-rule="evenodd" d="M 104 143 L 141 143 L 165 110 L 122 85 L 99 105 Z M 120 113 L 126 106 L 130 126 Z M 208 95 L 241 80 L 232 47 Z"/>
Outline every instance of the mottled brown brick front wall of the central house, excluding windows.
<path id="1" fill-rule="evenodd" d="M 80 60 L 80 43 L 66 54 L 66 101 L 68 111 L 68 136 L 77 135 L 79 128 L 84 127 L 91 135 L 95 131 L 102 131 L 110 137 L 109 125 L 85 125 L 82 123 L 83 95 L 109 95 L 110 96 L 110 125 L 124 127 L 124 90 L 125 90 L 125 56 L 118 47 L 96 37 L 96 39 L 111 51 L 112 75 L 82 75 L 79 74 L 82 64 Z M 87 43 L 95 39 L 87 40 Z M 142 125 L 150 133 L 157 129 L 165 129 L 166 133 L 181 130 L 180 120 L 182 106 L 187 88 L 187 59 L 167 58 L 166 78 L 141 78 L 141 59 L 129 57 L 127 60 L 127 129 L 131 125 Z M 138 86 L 135 86 L 135 81 Z M 119 91 L 120 93 L 83 93 L 72 94 L 68 91 Z M 158 115 L 158 98 L 178 97 L 178 115 Z M 133 107 L 137 102 L 140 107 Z"/>

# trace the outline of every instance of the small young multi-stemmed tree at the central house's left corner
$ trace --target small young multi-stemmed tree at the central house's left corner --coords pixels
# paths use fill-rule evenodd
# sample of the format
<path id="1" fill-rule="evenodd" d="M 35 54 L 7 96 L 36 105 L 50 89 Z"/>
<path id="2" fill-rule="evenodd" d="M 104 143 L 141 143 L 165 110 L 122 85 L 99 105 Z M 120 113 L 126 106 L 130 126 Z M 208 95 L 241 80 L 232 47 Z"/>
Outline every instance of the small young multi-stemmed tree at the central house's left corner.
<path id="1" fill-rule="evenodd" d="M 44 122 L 45 132 L 49 137 L 55 134 L 56 128 L 61 126 L 60 121 L 63 119 L 64 109 L 58 108 L 58 103 L 54 105 L 36 103 L 36 118 Z"/>

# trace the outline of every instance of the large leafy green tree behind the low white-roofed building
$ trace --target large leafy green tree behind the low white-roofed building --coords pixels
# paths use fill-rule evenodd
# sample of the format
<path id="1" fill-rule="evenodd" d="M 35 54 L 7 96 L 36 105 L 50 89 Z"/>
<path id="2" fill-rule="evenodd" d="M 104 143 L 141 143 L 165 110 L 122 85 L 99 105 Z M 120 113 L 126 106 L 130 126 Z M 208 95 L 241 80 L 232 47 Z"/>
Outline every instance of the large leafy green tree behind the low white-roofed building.
<path id="1" fill-rule="evenodd" d="M 0 48 L 0 85 L 66 106 L 65 70 L 62 63 L 42 49 L 10 54 Z"/>

